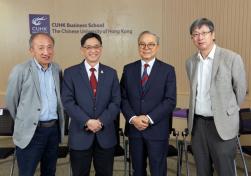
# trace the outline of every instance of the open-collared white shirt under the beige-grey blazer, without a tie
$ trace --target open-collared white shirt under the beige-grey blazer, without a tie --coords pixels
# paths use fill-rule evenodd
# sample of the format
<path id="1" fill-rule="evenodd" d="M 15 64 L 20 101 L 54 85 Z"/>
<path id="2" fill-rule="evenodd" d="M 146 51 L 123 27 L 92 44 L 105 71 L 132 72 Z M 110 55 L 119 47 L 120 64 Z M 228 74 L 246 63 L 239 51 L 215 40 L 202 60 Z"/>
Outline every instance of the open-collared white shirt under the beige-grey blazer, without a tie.
<path id="1" fill-rule="evenodd" d="M 208 56 L 203 59 L 200 53 L 198 64 L 198 85 L 196 95 L 195 114 L 202 116 L 213 116 L 212 102 L 210 98 L 211 75 L 213 68 L 213 59 L 216 45 L 213 46 Z"/>

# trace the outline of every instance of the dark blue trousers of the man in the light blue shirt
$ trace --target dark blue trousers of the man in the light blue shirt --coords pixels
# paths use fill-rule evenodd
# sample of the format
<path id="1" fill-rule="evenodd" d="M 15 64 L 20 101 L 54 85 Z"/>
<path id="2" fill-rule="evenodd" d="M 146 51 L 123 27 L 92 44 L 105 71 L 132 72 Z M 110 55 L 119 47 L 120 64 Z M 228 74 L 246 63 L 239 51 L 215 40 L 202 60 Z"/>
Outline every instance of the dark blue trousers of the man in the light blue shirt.
<path id="1" fill-rule="evenodd" d="M 41 176 L 55 176 L 59 129 L 38 127 L 27 147 L 16 147 L 19 176 L 33 176 L 40 162 Z"/>

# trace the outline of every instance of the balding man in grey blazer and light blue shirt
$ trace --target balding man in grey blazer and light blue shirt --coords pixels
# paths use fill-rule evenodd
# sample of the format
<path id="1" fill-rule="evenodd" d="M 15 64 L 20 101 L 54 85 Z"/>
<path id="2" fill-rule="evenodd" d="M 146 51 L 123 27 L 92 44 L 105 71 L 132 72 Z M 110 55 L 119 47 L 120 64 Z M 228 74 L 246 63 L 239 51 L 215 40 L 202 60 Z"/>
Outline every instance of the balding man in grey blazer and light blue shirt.
<path id="1" fill-rule="evenodd" d="M 19 176 L 33 176 L 39 162 L 42 176 L 54 176 L 64 134 L 60 69 L 52 63 L 54 39 L 49 34 L 33 34 L 29 42 L 33 58 L 14 67 L 6 94 L 15 121 Z"/>

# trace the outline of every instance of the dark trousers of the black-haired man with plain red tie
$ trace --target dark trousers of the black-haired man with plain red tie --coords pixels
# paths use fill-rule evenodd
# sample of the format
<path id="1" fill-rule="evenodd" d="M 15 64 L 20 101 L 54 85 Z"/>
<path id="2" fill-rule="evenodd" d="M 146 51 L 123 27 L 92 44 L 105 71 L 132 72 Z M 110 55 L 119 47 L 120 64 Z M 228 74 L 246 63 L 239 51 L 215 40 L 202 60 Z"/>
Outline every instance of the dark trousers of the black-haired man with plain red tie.
<path id="1" fill-rule="evenodd" d="M 91 162 L 96 176 L 112 176 L 115 148 L 102 148 L 95 138 L 93 145 L 87 150 L 70 150 L 73 176 L 89 176 Z"/>

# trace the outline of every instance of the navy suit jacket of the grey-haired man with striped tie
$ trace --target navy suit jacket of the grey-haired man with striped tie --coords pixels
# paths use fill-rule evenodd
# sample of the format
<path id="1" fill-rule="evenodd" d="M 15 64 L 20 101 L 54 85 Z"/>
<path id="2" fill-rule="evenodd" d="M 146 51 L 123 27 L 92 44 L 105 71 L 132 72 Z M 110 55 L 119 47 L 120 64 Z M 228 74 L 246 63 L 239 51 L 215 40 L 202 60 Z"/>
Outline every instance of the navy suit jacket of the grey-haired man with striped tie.
<path id="1" fill-rule="evenodd" d="M 165 140 L 169 137 L 169 118 L 176 106 L 176 76 L 174 67 L 155 60 L 144 96 L 141 88 L 141 61 L 124 67 L 121 79 L 122 113 L 126 119 L 125 132 L 129 137 Z M 143 131 L 129 120 L 137 115 L 149 115 L 154 124 Z"/>

